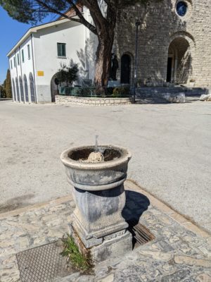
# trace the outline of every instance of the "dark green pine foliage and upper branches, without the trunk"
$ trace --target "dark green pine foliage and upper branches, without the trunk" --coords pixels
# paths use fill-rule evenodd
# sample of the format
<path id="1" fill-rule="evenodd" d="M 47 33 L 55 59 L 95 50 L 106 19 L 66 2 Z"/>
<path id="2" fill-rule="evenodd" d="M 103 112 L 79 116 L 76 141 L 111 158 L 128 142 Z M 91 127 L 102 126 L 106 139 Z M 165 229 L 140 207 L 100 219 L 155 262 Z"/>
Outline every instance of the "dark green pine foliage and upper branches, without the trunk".
<path id="1" fill-rule="evenodd" d="M 82 13 L 80 13 L 78 5 L 87 6 L 91 13 L 97 11 L 96 17 L 93 18 L 95 23 L 95 18 L 98 18 L 99 16 L 103 17 L 99 8 L 100 2 L 104 2 L 108 6 L 108 13 L 105 18 L 109 20 L 109 12 L 112 8 L 121 10 L 122 8 L 138 2 L 144 4 L 148 2 L 148 0 L 0 0 L 0 5 L 13 19 L 22 23 L 31 23 L 32 25 L 39 23 L 49 13 L 55 13 L 59 16 L 69 18 L 65 12 L 72 8 L 75 10 L 77 16 L 79 16 L 79 19 L 72 18 L 71 20 L 86 25 L 87 21 L 84 19 Z"/>

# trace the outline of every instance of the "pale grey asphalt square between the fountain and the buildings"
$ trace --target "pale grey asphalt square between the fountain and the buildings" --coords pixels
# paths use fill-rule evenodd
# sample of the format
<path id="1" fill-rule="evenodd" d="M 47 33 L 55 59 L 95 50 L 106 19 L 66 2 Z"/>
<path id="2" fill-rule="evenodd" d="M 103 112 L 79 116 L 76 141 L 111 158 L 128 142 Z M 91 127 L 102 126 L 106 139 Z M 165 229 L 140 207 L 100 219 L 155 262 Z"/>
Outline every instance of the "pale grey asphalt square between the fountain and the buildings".
<path id="1" fill-rule="evenodd" d="M 79 107 L 0 102 L 0 212 L 70 193 L 64 149 L 127 147 L 128 177 L 211 230 L 211 102 Z"/>

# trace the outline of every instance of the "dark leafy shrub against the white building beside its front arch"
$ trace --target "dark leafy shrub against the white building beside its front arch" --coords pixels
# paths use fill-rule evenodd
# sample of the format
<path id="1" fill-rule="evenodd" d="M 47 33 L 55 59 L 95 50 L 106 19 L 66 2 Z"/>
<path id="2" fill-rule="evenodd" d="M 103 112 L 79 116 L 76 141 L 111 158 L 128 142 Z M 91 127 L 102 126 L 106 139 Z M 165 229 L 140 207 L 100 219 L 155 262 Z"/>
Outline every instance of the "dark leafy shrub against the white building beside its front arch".
<path id="1" fill-rule="evenodd" d="M 77 63 L 70 60 L 69 66 L 66 66 L 65 63 L 60 65 L 56 78 L 59 82 L 66 82 L 67 85 L 72 85 L 72 82 L 78 78 L 78 71 L 79 69 Z"/>

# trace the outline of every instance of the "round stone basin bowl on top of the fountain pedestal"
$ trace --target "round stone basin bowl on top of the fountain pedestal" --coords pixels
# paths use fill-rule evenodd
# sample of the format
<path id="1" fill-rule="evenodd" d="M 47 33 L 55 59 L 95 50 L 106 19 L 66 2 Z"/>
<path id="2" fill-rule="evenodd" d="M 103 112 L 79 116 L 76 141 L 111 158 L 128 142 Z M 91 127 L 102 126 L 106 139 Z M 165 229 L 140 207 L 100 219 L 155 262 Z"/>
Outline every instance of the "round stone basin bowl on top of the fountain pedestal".
<path id="1" fill-rule="evenodd" d="M 101 145 L 99 152 L 104 161 L 87 163 L 94 146 L 67 149 L 60 156 L 65 165 L 68 181 L 75 188 L 88 191 L 108 190 L 124 183 L 127 178 L 127 164 L 132 154 L 123 147 Z M 79 161 L 81 160 L 81 161 Z"/>

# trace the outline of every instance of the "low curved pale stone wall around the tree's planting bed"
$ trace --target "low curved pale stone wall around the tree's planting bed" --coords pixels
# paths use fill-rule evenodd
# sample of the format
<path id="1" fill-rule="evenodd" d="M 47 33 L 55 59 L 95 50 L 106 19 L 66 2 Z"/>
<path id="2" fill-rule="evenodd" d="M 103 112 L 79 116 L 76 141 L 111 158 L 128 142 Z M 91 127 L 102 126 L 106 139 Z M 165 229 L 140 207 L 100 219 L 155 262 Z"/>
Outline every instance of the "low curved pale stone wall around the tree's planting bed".
<path id="1" fill-rule="evenodd" d="M 75 97 L 56 95 L 56 104 L 73 104 L 79 106 L 116 106 L 132 104 L 132 98 Z"/>

